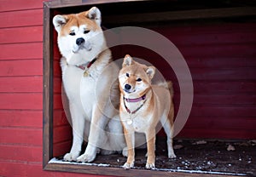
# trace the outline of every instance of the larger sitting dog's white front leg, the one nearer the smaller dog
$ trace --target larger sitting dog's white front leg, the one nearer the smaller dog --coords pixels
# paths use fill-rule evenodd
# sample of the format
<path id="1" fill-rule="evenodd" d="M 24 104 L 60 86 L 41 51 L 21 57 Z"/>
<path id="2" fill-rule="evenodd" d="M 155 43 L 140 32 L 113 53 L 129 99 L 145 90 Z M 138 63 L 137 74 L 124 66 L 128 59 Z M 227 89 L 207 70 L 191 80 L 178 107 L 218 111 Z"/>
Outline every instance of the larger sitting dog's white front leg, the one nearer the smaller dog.
<path id="1" fill-rule="evenodd" d="M 77 160 L 79 162 L 92 162 L 96 157 L 97 148 L 101 147 L 102 137 L 105 137 L 106 124 L 108 123 L 108 118 L 102 115 L 102 111 L 96 106 L 92 112 L 91 122 L 90 122 L 90 133 L 88 137 L 88 144 L 84 151 L 84 154 L 79 156 Z"/>

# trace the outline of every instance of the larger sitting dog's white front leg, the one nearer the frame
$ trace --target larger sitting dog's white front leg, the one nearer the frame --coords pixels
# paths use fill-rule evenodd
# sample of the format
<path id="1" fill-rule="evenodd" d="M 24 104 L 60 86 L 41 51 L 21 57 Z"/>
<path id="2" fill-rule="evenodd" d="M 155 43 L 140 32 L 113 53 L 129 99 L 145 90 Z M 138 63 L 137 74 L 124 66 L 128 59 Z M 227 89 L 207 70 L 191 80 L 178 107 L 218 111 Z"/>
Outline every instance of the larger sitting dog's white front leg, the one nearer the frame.
<path id="1" fill-rule="evenodd" d="M 81 146 L 84 140 L 85 119 L 78 109 L 78 106 L 70 104 L 69 107 L 73 126 L 73 145 L 71 151 L 64 156 L 64 160 L 76 161 L 77 157 L 79 157 Z"/>

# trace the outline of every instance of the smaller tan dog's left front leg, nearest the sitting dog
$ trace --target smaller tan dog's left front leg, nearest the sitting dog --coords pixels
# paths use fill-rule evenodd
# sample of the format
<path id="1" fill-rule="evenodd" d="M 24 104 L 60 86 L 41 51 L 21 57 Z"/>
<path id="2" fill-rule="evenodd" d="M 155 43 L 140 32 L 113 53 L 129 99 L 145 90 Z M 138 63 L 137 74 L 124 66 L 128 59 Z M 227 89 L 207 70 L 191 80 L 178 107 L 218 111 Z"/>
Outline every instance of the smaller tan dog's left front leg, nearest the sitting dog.
<path id="1" fill-rule="evenodd" d="M 126 163 L 123 165 L 123 168 L 129 169 L 133 168 L 134 166 L 134 158 L 135 158 L 135 152 L 134 152 L 134 142 L 135 142 L 135 134 L 134 132 L 128 132 L 126 128 L 124 128 L 125 133 L 125 141 L 127 144 L 128 149 L 128 157 Z"/>

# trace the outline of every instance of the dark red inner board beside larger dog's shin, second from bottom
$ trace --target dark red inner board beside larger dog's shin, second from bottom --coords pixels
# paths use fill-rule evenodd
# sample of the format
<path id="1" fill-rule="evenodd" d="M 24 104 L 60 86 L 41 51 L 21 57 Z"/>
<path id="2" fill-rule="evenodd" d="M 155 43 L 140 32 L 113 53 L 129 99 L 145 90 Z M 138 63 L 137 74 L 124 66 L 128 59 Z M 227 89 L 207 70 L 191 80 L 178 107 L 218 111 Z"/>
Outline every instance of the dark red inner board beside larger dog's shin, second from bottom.
<path id="1" fill-rule="evenodd" d="M 72 140 L 72 128 L 70 125 L 53 128 L 53 142 L 59 143 L 67 140 Z"/>

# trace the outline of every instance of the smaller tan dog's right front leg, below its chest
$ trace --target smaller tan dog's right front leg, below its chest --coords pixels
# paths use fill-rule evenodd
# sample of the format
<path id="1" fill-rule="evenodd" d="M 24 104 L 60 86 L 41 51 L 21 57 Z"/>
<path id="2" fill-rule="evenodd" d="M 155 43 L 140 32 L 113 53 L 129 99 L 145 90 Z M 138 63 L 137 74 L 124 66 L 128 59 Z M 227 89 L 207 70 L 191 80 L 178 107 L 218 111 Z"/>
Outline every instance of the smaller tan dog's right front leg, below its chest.
<path id="1" fill-rule="evenodd" d="M 146 163 L 146 168 L 154 168 L 155 154 L 155 131 L 154 128 L 148 129 L 146 132 L 147 148 L 148 148 L 148 159 Z"/>

